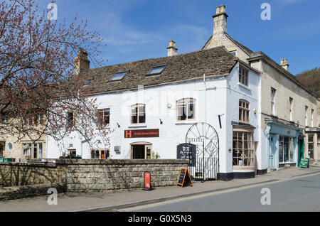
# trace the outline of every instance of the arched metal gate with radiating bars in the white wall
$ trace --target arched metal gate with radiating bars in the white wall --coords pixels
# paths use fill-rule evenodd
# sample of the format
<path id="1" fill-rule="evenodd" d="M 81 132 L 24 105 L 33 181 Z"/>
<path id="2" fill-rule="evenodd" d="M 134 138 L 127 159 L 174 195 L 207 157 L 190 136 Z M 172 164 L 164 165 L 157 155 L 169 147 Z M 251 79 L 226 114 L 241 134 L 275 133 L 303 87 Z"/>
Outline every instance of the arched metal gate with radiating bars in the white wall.
<path id="1" fill-rule="evenodd" d="M 186 145 L 195 149 L 189 152 L 191 162 L 188 169 L 191 178 L 196 181 L 218 180 L 220 164 L 217 131 L 210 124 L 194 124 L 186 134 Z"/>

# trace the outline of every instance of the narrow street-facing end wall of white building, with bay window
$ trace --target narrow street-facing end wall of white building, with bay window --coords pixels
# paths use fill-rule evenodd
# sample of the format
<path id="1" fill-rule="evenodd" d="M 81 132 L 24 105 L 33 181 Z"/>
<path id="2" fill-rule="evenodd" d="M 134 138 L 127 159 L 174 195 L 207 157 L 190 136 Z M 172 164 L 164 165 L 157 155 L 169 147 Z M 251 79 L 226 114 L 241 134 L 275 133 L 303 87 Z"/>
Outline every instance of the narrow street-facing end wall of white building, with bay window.
<path id="1" fill-rule="evenodd" d="M 235 72 L 227 77 L 227 134 L 228 139 L 228 171 L 234 175 L 241 173 L 255 174 L 255 169 L 264 170 L 265 153 L 261 151 L 260 133 L 260 73 L 250 70 L 238 63 Z M 239 72 L 247 71 L 247 85 L 239 77 Z M 244 104 L 242 104 L 244 103 Z M 241 106 L 240 106 L 241 105 Z M 235 139 L 239 135 L 239 139 Z M 251 136 L 245 138 L 245 136 Z M 240 145 L 238 145 L 240 144 Z M 238 155 L 238 156 L 237 156 Z M 237 161 L 238 159 L 239 161 Z"/>

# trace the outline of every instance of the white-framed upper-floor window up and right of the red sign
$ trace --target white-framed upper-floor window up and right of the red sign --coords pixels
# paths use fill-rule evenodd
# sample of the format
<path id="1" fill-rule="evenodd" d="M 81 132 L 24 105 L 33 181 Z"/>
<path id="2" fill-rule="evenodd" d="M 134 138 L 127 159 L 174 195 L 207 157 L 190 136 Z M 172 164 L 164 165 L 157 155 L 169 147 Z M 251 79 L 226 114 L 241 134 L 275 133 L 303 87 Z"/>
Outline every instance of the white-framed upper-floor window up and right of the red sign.
<path id="1" fill-rule="evenodd" d="M 176 105 L 178 122 L 196 119 L 196 99 L 181 99 Z"/>

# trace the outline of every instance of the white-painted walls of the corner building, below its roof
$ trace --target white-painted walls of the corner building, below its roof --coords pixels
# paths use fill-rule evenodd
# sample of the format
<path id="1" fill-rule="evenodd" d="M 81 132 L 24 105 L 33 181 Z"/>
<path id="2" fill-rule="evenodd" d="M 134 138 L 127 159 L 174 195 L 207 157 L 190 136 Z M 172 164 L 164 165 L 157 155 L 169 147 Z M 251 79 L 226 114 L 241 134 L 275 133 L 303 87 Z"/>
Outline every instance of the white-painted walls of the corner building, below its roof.
<path id="1" fill-rule="evenodd" d="M 132 154 L 133 146 L 137 151 L 151 150 L 151 156 L 162 159 L 177 158 L 177 146 L 186 143 L 186 133 L 193 124 L 206 122 L 213 126 L 220 140 L 220 173 L 233 173 L 233 121 L 239 121 L 239 99 L 250 102 L 250 124 L 259 127 L 257 114 L 253 109 L 259 109 L 260 75 L 248 70 L 247 87 L 239 85 L 239 64 L 235 65 L 228 76 L 206 77 L 203 80 L 176 82 L 168 85 L 144 87 L 144 89 L 126 92 L 110 92 L 95 95 L 92 98 L 100 103 L 99 109 L 110 110 L 110 124 L 107 128 L 112 131 L 109 139 L 97 136 L 90 142 L 80 139 L 76 132 L 65 139 L 68 149 L 77 151 L 82 158 L 92 158 L 92 151 L 110 151 L 112 159 L 130 159 L 141 154 Z M 236 99 L 236 101 L 235 101 Z M 190 109 L 186 117 L 178 117 L 183 112 L 181 107 L 187 105 Z M 192 106 L 190 105 L 192 104 Z M 139 112 L 136 106 L 144 107 Z M 143 109 L 143 110 L 142 110 Z M 144 119 L 137 122 L 134 115 L 144 113 Z M 259 110 L 257 110 L 259 112 Z M 189 114 L 188 114 L 189 113 Z M 221 115 L 220 128 L 218 115 Z M 188 117 L 189 116 L 189 117 Z M 139 117 L 138 117 L 139 118 Z M 138 120 L 140 121 L 140 119 Z M 159 129 L 159 137 L 125 138 L 126 131 Z M 255 139 L 258 133 L 255 131 Z M 49 137 L 50 153 L 48 158 L 58 158 L 62 155 L 55 141 Z M 229 151 L 231 150 L 231 151 Z M 143 157 L 144 155 L 142 155 Z M 145 154 L 146 158 L 148 154 Z"/>

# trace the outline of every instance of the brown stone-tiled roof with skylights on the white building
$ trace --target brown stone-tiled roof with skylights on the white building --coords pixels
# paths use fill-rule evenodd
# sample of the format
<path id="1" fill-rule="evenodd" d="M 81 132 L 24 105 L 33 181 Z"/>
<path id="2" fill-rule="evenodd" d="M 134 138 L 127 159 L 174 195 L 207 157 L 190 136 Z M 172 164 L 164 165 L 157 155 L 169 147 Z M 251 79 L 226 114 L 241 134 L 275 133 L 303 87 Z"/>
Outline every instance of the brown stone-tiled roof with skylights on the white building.
<path id="1" fill-rule="evenodd" d="M 119 90 L 133 90 L 144 87 L 164 85 L 183 80 L 202 79 L 203 74 L 209 76 L 229 75 L 238 58 L 225 49 L 217 47 L 165 58 L 139 60 L 131 63 L 110 65 L 103 68 L 90 69 L 93 78 L 86 87 L 94 94 L 117 92 Z M 146 76 L 151 68 L 166 65 L 161 75 Z M 110 82 L 117 72 L 127 72 L 120 82 Z"/>

